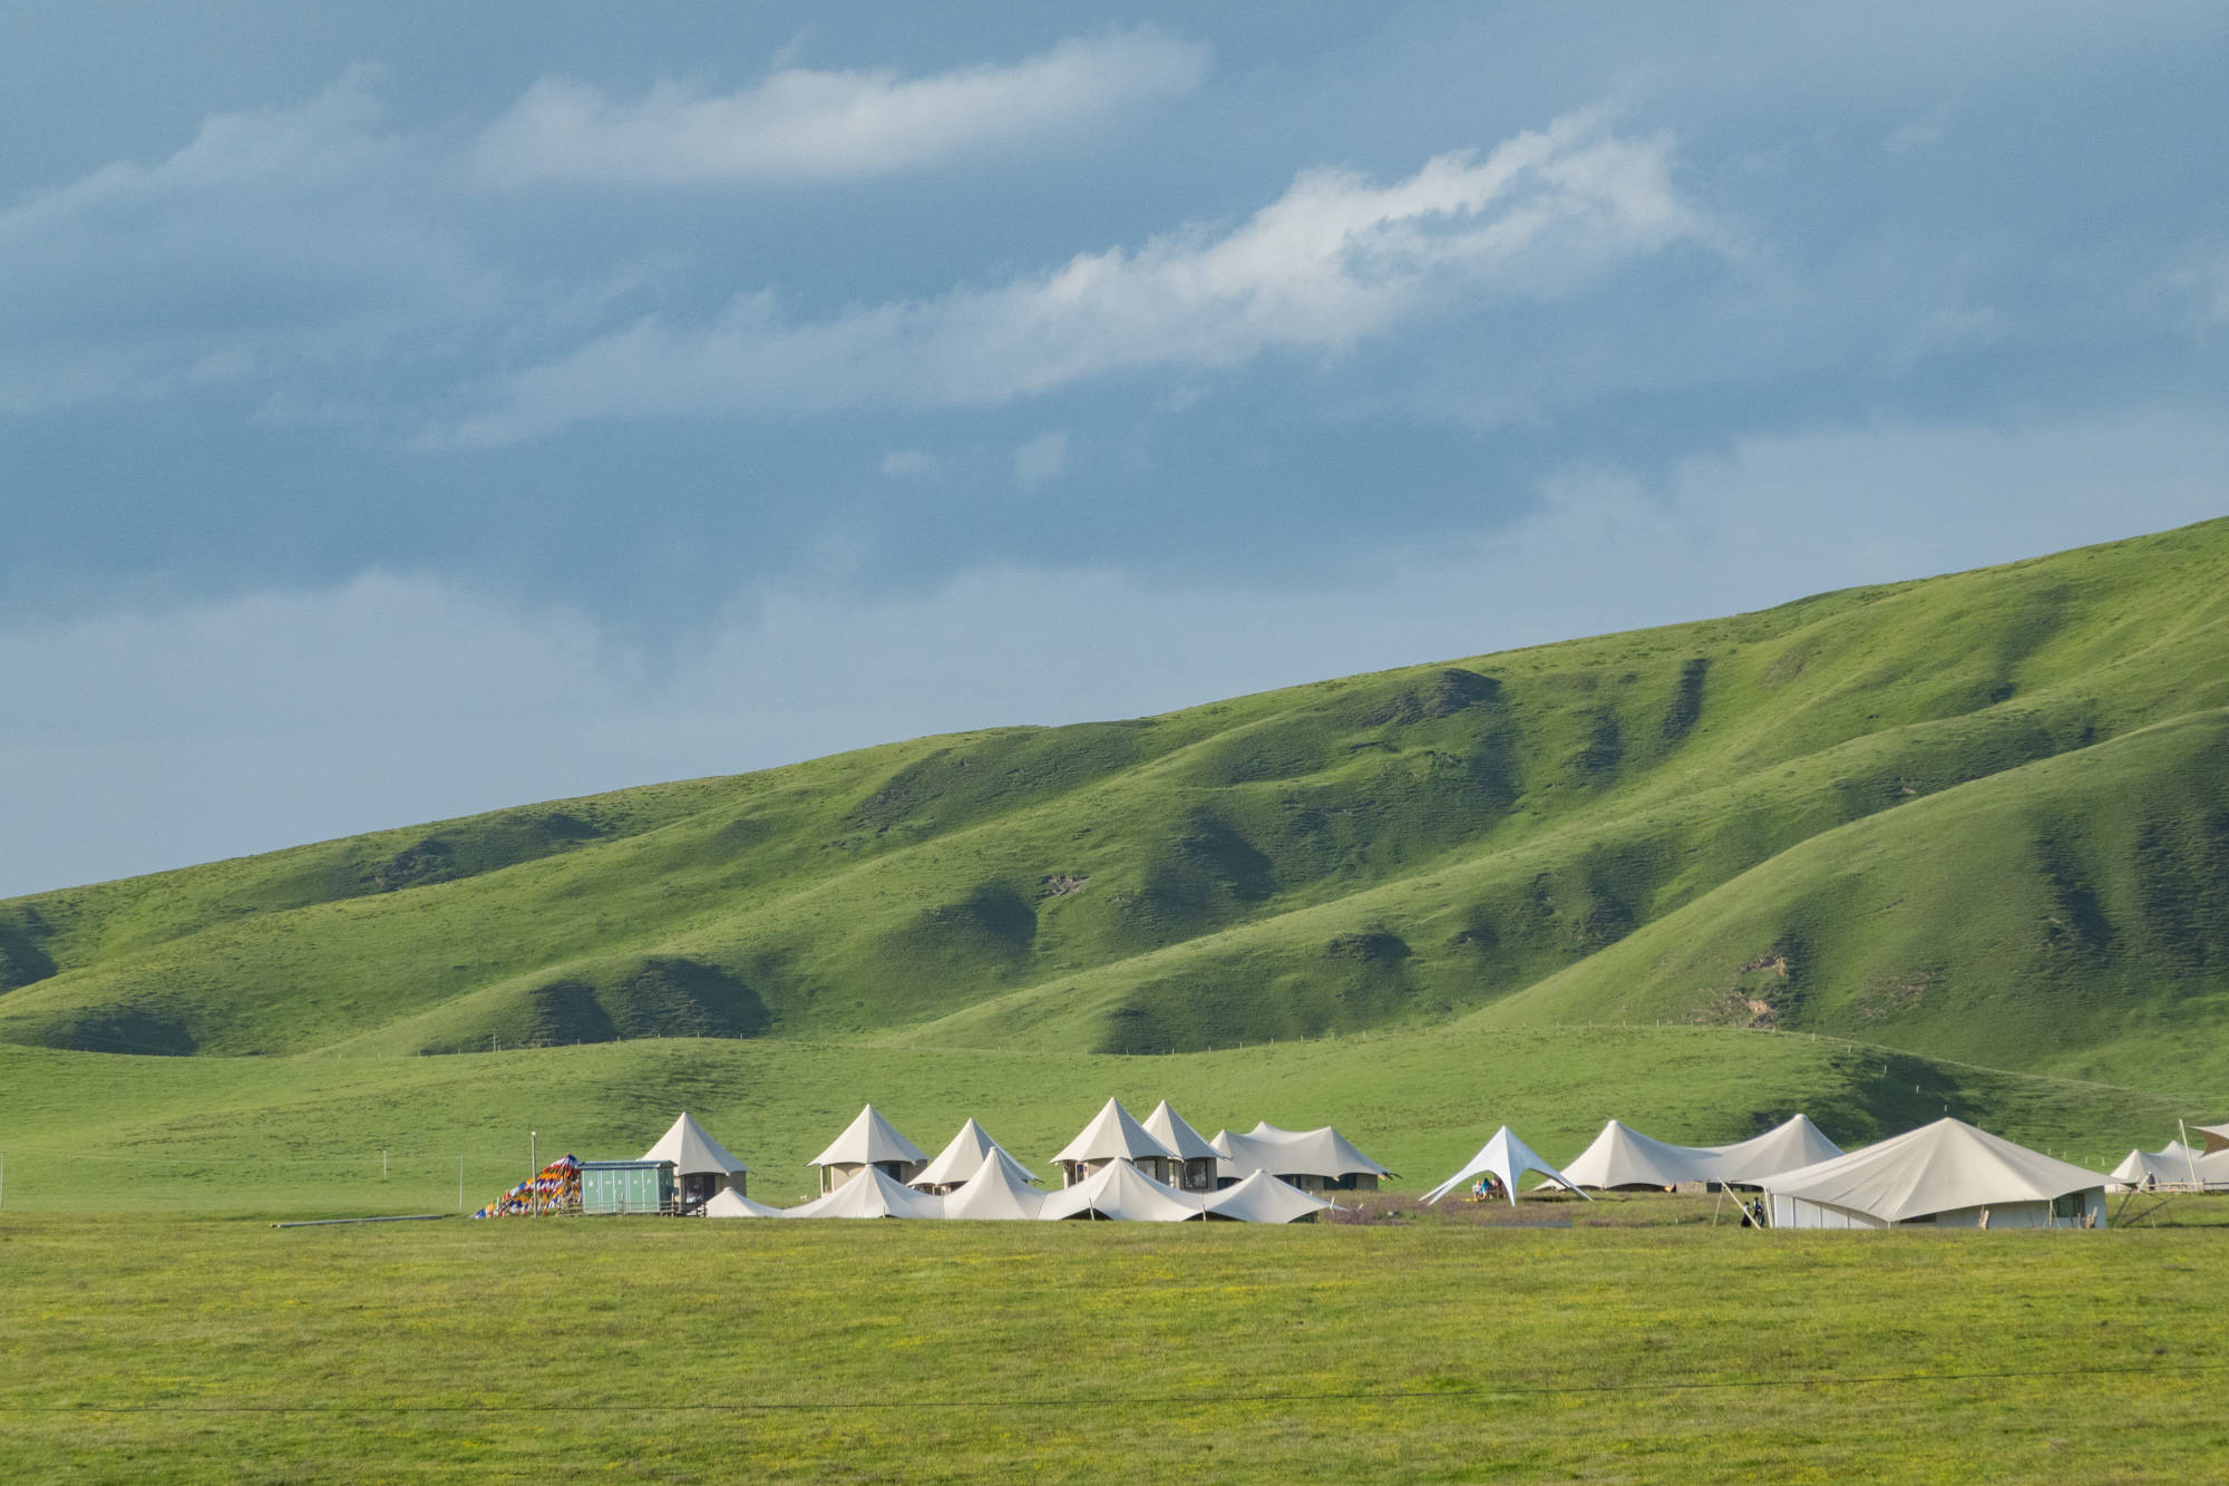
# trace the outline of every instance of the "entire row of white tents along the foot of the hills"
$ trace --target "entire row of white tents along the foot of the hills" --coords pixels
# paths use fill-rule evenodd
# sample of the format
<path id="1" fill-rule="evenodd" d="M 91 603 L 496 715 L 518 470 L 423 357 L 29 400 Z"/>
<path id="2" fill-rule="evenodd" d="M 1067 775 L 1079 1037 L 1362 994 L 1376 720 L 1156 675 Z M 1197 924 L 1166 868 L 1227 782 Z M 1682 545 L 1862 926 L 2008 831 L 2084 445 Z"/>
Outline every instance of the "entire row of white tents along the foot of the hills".
<path id="1" fill-rule="evenodd" d="M 1772 1227 L 2102 1227 L 2106 1189 L 2229 1185 L 2229 1125 L 2198 1133 L 2202 1151 L 2171 1142 L 2131 1151 L 2113 1174 L 2100 1174 L 1955 1118 L 1848 1154 L 1801 1113 L 1732 1145 L 1672 1145 L 1609 1120 L 1558 1169 L 1505 1125 L 1424 1200 L 1491 1174 L 1511 1203 L 1525 1176 L 1578 1196 L 1752 1189 L 1763 1194 Z M 673 1160 L 684 1183 L 720 1187 L 702 1200 L 707 1216 L 756 1218 L 1302 1223 L 1331 1207 L 1315 1191 L 1375 1187 L 1393 1176 L 1331 1127 L 1257 1125 L 1206 1140 L 1166 1100 L 1146 1120 L 1108 1100 L 1052 1158 L 1063 1180 L 1054 1191 L 1039 1191 L 1039 1176 L 974 1120 L 932 1160 L 874 1104 L 811 1160 L 823 1194 L 789 1209 L 744 1196 L 744 1165 L 687 1113 L 644 1160 Z"/>

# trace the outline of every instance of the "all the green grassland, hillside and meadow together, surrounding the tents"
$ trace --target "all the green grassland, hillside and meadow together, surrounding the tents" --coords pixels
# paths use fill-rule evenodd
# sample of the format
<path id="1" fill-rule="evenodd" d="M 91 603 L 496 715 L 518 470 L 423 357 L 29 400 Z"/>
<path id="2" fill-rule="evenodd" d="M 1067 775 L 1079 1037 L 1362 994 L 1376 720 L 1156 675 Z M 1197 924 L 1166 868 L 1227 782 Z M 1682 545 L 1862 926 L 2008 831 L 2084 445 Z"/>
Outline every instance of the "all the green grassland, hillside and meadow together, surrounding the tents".
<path id="1" fill-rule="evenodd" d="M 1331 1122 L 1406 1194 L 1607 1118 L 1855 1149 L 1953 1113 L 2106 1169 L 2229 1113 L 2225 618 L 2211 522 L 0 904 L 11 1448 L 2189 1479 L 2229 1448 L 2216 1196 L 1957 1236 L 1661 1194 L 1527 1196 L 1547 1229 L 270 1223 L 455 1214 L 528 1131 L 631 1158 L 680 1109 L 787 1205 L 865 1100 L 1032 1165 L 1106 1098 Z"/>

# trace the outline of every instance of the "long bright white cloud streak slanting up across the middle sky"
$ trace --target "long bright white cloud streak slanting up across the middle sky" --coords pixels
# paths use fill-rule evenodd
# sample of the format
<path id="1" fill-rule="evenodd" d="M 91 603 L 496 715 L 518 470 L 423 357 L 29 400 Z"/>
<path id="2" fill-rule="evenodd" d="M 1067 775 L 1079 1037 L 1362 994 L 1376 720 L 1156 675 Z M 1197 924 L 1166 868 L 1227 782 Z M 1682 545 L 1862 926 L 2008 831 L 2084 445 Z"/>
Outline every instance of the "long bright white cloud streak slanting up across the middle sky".
<path id="1" fill-rule="evenodd" d="M 1195 225 L 996 288 L 802 324 L 771 292 L 700 326 L 653 315 L 493 384 L 484 411 L 426 444 L 504 444 L 595 417 L 994 406 L 1119 368 L 1335 353 L 1433 310 L 1556 297 L 1707 237 L 1670 156 L 1663 136 L 1620 138 L 1574 114 L 1391 185 L 1308 170 L 1228 232 Z"/>

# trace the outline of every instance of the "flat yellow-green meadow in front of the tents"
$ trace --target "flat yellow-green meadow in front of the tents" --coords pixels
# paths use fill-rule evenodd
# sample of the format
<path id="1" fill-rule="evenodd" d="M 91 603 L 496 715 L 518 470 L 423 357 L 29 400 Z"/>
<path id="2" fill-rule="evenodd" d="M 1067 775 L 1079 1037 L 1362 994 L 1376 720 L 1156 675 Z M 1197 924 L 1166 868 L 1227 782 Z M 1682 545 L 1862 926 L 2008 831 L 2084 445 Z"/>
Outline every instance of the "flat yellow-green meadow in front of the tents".
<path id="1" fill-rule="evenodd" d="M 0 1439 L 9 1473 L 91 1479 L 2189 1482 L 2229 1457 L 2229 1227 L 1542 1209 L 1578 1223 L 9 1214 Z"/>

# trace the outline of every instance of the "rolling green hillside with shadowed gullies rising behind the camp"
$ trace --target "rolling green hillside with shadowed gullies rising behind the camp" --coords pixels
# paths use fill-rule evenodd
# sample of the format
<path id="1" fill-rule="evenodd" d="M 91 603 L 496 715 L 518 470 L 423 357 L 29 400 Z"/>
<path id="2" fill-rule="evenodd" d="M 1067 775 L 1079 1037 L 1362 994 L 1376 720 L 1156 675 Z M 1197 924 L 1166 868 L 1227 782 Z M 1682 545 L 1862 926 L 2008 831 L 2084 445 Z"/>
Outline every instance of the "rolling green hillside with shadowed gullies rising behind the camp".
<path id="1" fill-rule="evenodd" d="M 2229 522 L 0 904 L 0 1040 L 1828 1031 L 2229 1089 Z"/>

